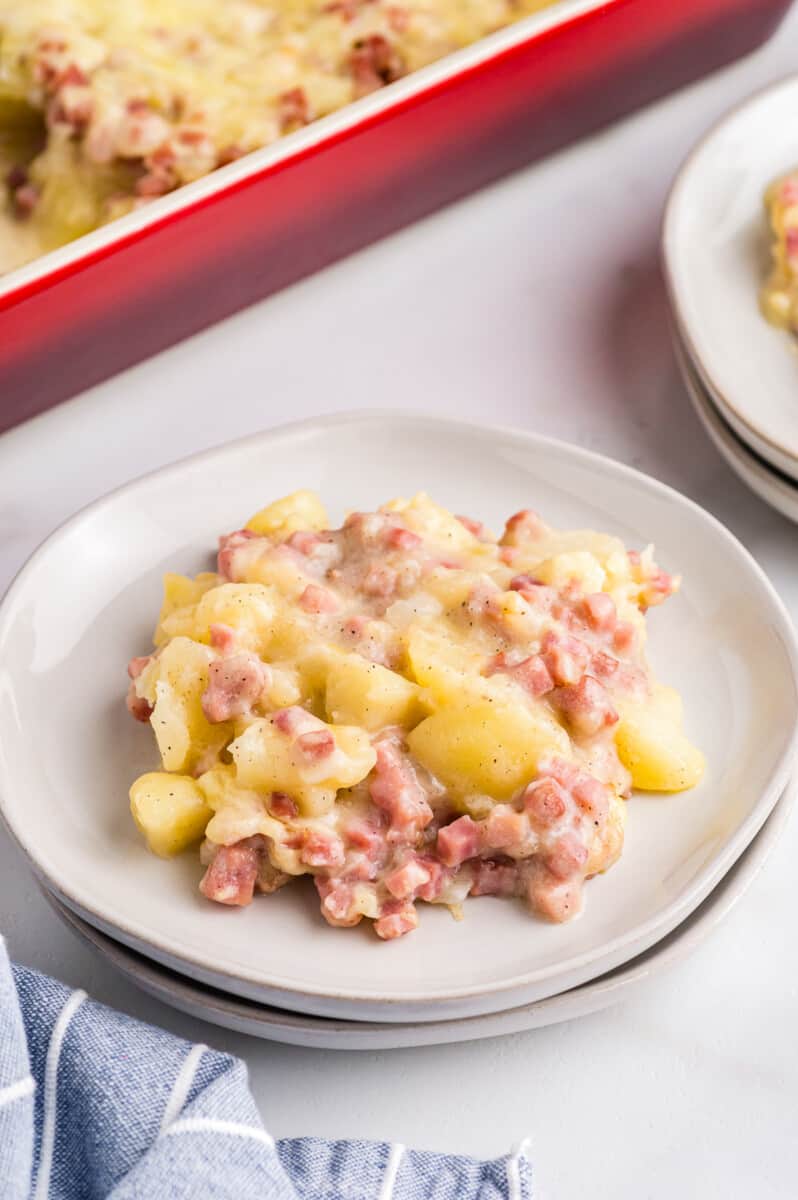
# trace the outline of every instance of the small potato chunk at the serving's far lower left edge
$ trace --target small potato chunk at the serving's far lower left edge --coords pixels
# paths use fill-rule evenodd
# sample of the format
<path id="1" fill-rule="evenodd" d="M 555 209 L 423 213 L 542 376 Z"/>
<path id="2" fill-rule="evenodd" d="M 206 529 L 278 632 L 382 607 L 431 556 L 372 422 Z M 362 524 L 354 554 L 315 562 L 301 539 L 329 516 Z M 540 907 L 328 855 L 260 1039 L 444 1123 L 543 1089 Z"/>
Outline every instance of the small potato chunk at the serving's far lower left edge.
<path id="1" fill-rule="evenodd" d="M 172 858 L 199 841 L 212 810 L 188 775 L 154 770 L 139 775 L 130 792 L 131 812 L 150 850 Z"/>

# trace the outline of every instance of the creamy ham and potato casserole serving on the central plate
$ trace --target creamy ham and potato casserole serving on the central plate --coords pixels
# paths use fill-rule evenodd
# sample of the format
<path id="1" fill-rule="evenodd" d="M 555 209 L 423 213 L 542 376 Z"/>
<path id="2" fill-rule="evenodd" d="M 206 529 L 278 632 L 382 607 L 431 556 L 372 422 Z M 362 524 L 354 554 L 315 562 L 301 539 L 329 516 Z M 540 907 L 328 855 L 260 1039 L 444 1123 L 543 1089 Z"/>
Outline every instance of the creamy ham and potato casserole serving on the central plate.
<path id="1" fill-rule="evenodd" d="M 497 540 L 426 494 L 331 529 L 312 492 L 167 575 L 128 666 L 157 770 L 131 788 L 156 853 L 202 840 L 200 890 L 247 905 L 310 875 L 331 925 L 416 928 L 518 896 L 564 922 L 620 854 L 632 787 L 703 760 L 646 659 L 678 580 L 652 550 L 516 512 Z"/>

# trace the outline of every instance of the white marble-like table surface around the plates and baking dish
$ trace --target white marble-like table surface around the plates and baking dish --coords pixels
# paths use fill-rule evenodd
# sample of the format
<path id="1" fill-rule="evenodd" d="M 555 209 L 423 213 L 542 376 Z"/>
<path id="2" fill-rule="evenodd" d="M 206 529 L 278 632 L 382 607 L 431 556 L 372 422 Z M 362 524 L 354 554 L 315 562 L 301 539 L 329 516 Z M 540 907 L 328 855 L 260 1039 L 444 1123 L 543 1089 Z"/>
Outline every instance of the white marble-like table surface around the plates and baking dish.
<path id="1" fill-rule="evenodd" d="M 797 40 L 798 11 L 744 62 L 1 437 L 0 587 L 116 484 L 264 426 L 379 404 L 515 424 L 632 463 L 726 522 L 798 612 L 798 530 L 704 437 L 658 269 L 678 163 L 724 109 L 798 66 Z M 548 1200 L 794 1200 L 797 856 L 793 820 L 710 942 L 622 1006 L 432 1050 L 301 1050 L 172 1012 L 64 929 L 4 833 L 0 925 L 19 961 L 246 1058 L 277 1136 L 492 1156 L 529 1134 Z"/>

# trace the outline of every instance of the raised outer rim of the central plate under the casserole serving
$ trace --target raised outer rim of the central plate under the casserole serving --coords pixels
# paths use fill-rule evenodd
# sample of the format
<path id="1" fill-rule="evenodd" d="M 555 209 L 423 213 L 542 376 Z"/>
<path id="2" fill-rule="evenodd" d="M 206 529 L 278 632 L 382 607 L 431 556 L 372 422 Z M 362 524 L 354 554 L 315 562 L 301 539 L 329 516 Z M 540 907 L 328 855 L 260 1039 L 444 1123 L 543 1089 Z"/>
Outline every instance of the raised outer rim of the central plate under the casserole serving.
<path id="1" fill-rule="evenodd" d="M 587 450 L 582 446 L 577 446 L 557 438 L 535 433 L 529 430 L 380 408 L 336 412 L 298 421 L 290 421 L 283 425 L 270 426 L 257 433 L 246 434 L 232 442 L 210 446 L 205 450 L 198 451 L 197 454 L 179 458 L 172 463 L 148 472 L 137 479 L 128 480 L 103 496 L 97 497 L 95 500 L 84 505 L 76 514 L 62 521 L 41 542 L 41 545 L 34 551 L 34 553 L 20 566 L 19 571 L 13 577 L 2 598 L 2 601 L 0 602 L 0 646 L 2 646 L 8 635 L 8 626 L 13 620 L 17 600 L 20 595 L 24 595 L 24 588 L 26 587 L 29 576 L 34 574 L 40 562 L 49 552 L 52 545 L 58 542 L 58 540 L 68 530 L 77 528 L 86 518 L 101 512 L 119 497 L 136 494 L 137 491 L 146 488 L 151 480 L 164 479 L 172 474 L 179 474 L 182 469 L 190 466 L 197 467 L 203 463 L 212 463 L 214 460 L 222 461 L 229 455 L 234 456 L 236 451 L 242 450 L 244 448 L 254 445 L 268 446 L 280 439 L 296 437 L 302 433 L 318 436 L 329 428 L 364 424 L 372 427 L 382 427 L 384 430 L 388 422 L 397 422 L 406 428 L 416 431 L 434 430 L 442 433 L 448 432 L 450 434 L 460 433 L 470 437 L 480 434 L 484 438 L 506 438 L 514 442 L 520 442 L 527 446 L 535 448 L 539 451 L 546 451 L 550 455 L 564 457 L 571 462 L 576 461 L 589 464 L 600 474 L 610 475 L 614 479 L 620 478 L 637 488 L 643 488 L 644 491 L 653 493 L 664 502 L 676 503 L 682 506 L 683 510 L 686 508 L 686 510 L 696 520 L 703 522 L 708 527 L 714 536 L 726 544 L 731 553 L 744 560 L 749 574 L 754 576 L 760 588 L 768 598 L 770 614 L 778 625 L 782 648 L 792 673 L 793 688 L 796 696 L 798 697 L 798 642 L 796 640 L 796 632 L 786 606 L 762 568 L 758 565 L 756 559 L 754 559 L 745 546 L 743 546 L 739 539 L 736 538 L 734 534 L 732 534 L 731 530 L 727 529 L 712 512 L 708 512 L 695 500 L 682 494 L 680 492 L 677 492 L 676 488 L 670 485 L 664 484 L 662 481 L 654 479 L 634 467 L 629 467 L 626 463 L 617 462 L 606 455 Z M 2 742 L 2 737 L 4 734 L 0 733 L 0 743 Z M 678 925 L 698 906 L 698 904 L 702 902 L 709 890 L 716 886 L 719 880 L 722 878 L 722 876 L 737 862 L 746 846 L 756 836 L 786 786 L 786 780 L 791 773 L 792 762 L 796 757 L 797 750 L 798 721 L 794 721 L 786 748 L 780 758 L 775 762 L 769 784 L 764 787 L 763 793 L 760 800 L 755 804 L 754 809 L 731 835 L 724 852 L 720 856 L 715 856 L 712 859 L 710 865 L 702 872 L 702 883 L 694 886 L 686 895 L 684 892 L 680 893 L 679 896 L 672 900 L 664 908 L 659 910 L 658 913 L 648 918 L 648 920 L 643 922 L 642 925 L 635 925 L 626 934 L 618 935 L 611 941 L 601 943 L 599 948 L 584 950 L 547 967 L 539 967 L 534 971 L 526 971 L 500 980 L 491 980 L 490 983 L 460 985 L 455 988 L 438 988 L 434 991 L 412 991 L 403 992 L 401 995 L 364 991 L 361 988 L 353 991 L 352 989 L 341 988 L 340 985 L 319 985 L 311 982 L 298 983 L 296 979 L 287 979 L 281 976 L 274 976 L 268 971 L 264 972 L 263 970 L 256 970 L 250 966 L 242 966 L 238 971 L 223 968 L 217 964 L 209 962 L 206 956 L 198 954 L 193 949 L 186 950 L 185 947 L 180 946 L 179 940 L 174 935 L 164 935 L 162 930 L 151 931 L 149 929 L 143 929 L 137 919 L 131 917 L 130 913 L 120 914 L 118 919 L 115 918 L 109 920 L 107 916 L 108 904 L 102 900 L 102 898 L 92 896 L 90 889 L 83 882 L 76 883 L 73 881 L 67 881 L 65 886 L 65 881 L 60 876 L 59 864 L 50 863 L 46 865 L 37 857 L 36 846 L 30 844 L 30 838 L 26 838 L 24 833 L 24 815 L 20 820 L 18 806 L 17 812 L 13 816 L 8 811 L 10 808 L 13 808 L 13 805 L 7 799 L 6 792 L 12 791 L 13 788 L 12 780 L 8 778 L 10 773 L 7 762 L 2 755 L 0 755 L 0 816 L 2 817 L 2 821 L 10 830 L 13 840 L 28 858 L 35 874 L 40 877 L 49 880 L 53 884 L 53 889 L 67 901 L 70 907 L 77 910 L 80 916 L 88 918 L 90 924 L 94 924 L 100 929 L 108 926 L 113 928 L 116 932 L 122 935 L 120 940 L 126 941 L 128 944 L 131 943 L 131 940 L 134 944 L 145 944 L 160 953 L 161 961 L 163 961 L 163 956 L 166 955 L 168 959 L 187 962 L 194 970 L 206 970 L 217 978 L 224 978 L 226 980 L 230 980 L 233 983 L 238 982 L 239 985 L 246 984 L 247 986 L 254 986 L 264 991 L 272 992 L 282 991 L 283 995 L 306 997 L 314 1003 L 346 1003 L 347 1006 L 354 1007 L 370 1006 L 372 1008 L 379 1008 L 384 1014 L 382 1019 L 392 1021 L 400 1020 L 400 1018 L 394 1015 L 394 1012 L 401 1008 L 424 1004 L 454 1006 L 457 1003 L 462 1004 L 468 1001 L 478 1001 L 480 998 L 500 997 L 514 991 L 523 990 L 524 988 L 532 989 L 535 985 L 545 983 L 545 980 L 551 980 L 552 978 L 557 979 L 563 976 L 568 976 L 569 973 L 574 973 L 575 971 L 582 971 L 587 964 L 595 962 L 599 959 L 602 961 L 613 960 L 605 968 L 610 970 L 612 966 L 617 966 L 618 962 L 625 961 L 635 954 L 641 953 L 660 937 L 666 936 L 670 930 Z M 698 894 L 698 899 L 695 899 L 696 893 Z M 634 949 L 629 954 L 625 954 L 625 948 L 630 946 L 632 946 Z"/>

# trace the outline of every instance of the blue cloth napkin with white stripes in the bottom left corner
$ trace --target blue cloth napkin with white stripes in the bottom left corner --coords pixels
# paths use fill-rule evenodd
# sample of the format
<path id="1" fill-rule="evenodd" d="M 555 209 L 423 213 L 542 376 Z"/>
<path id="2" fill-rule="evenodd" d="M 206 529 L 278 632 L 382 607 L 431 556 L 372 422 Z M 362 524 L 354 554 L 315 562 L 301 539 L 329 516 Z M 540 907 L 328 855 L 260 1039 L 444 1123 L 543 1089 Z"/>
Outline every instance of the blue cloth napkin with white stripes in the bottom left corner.
<path id="1" fill-rule="evenodd" d="M 480 1163 L 275 1141 L 245 1064 L 11 966 L 0 938 L 1 1200 L 530 1200 L 523 1146 Z"/>

